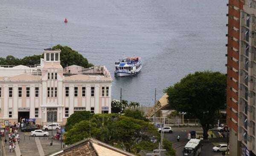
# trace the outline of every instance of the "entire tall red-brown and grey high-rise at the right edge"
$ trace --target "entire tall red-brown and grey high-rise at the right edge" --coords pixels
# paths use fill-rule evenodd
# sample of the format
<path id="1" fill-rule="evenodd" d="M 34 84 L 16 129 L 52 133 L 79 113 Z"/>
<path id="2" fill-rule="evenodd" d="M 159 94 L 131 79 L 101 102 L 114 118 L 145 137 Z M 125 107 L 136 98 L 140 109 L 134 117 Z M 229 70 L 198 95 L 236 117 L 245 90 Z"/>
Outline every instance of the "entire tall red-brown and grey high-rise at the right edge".
<path id="1" fill-rule="evenodd" d="M 230 127 L 230 155 L 255 156 L 256 0 L 229 0 L 228 6 L 227 124 Z M 232 75 L 230 70 L 237 70 L 237 67 L 236 75 Z"/>

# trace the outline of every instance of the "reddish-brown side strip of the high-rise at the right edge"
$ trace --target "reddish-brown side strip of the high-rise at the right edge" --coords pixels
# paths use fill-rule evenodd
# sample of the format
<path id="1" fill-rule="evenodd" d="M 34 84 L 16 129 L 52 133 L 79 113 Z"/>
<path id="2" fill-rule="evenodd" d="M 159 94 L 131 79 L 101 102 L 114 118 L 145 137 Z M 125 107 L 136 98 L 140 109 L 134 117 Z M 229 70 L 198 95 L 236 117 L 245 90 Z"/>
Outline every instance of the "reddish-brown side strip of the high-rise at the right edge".
<path id="1" fill-rule="evenodd" d="M 238 155 L 238 103 L 239 103 L 239 38 L 240 10 L 243 0 L 229 0 L 227 36 L 227 126 L 230 128 L 230 155 Z"/>

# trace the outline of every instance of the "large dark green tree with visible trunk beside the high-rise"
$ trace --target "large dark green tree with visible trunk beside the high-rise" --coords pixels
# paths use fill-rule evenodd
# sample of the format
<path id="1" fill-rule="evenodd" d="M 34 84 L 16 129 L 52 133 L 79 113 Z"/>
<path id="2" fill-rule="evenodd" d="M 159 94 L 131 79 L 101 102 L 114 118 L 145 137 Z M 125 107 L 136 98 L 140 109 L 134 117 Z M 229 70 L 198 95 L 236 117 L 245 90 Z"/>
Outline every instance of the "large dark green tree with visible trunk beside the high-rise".
<path id="1" fill-rule="evenodd" d="M 200 120 L 204 139 L 208 139 L 209 127 L 226 101 L 226 81 L 220 72 L 195 72 L 166 90 L 168 102 L 175 110 Z"/>

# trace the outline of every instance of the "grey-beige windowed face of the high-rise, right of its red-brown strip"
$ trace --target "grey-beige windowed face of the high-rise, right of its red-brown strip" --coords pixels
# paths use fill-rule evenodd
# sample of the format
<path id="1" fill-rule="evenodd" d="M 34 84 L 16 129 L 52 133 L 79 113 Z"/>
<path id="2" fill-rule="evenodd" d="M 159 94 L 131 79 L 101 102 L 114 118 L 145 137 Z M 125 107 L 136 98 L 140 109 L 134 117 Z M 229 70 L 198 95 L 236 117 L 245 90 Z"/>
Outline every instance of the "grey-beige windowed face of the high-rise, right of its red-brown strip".
<path id="1" fill-rule="evenodd" d="M 241 156 L 255 156 L 256 128 L 256 1 L 245 0 L 240 11 L 239 122 Z"/>

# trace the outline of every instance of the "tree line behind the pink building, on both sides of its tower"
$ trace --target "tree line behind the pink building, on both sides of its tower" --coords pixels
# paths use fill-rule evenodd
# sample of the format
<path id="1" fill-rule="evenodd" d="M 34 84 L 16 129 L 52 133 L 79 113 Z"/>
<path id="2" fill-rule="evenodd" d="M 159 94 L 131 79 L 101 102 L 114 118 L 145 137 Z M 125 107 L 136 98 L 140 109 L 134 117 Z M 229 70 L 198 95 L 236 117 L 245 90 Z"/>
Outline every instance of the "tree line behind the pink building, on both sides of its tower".
<path id="1" fill-rule="evenodd" d="M 53 46 L 52 49 L 61 49 L 60 60 L 63 68 L 73 64 L 83 66 L 84 68 L 93 66 L 93 64 L 88 63 L 87 58 L 84 58 L 83 55 L 68 46 L 56 45 Z M 32 55 L 24 58 L 15 58 L 12 55 L 8 55 L 6 58 L 0 58 L 0 65 L 17 66 L 21 64 L 24 66 L 34 66 L 35 64 L 40 64 L 40 58 L 44 58 L 44 55 Z"/>

